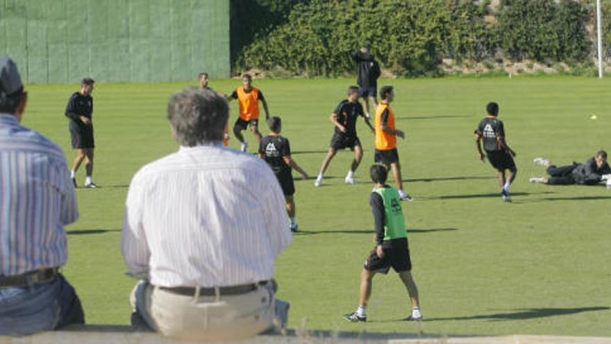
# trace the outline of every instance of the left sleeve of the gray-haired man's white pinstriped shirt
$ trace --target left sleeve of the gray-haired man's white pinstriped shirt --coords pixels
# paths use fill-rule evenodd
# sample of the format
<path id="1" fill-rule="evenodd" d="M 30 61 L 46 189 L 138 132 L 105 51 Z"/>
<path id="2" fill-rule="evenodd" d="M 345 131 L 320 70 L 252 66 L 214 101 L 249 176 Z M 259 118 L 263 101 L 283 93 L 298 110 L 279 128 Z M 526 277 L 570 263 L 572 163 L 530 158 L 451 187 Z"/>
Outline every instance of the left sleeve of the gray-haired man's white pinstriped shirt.
<path id="1" fill-rule="evenodd" d="M 121 234 L 121 252 L 128 268 L 128 275 L 140 278 L 149 273 L 151 252 L 142 220 L 144 190 L 140 185 L 146 183 L 139 181 L 140 178 L 136 174 L 129 186 Z"/>

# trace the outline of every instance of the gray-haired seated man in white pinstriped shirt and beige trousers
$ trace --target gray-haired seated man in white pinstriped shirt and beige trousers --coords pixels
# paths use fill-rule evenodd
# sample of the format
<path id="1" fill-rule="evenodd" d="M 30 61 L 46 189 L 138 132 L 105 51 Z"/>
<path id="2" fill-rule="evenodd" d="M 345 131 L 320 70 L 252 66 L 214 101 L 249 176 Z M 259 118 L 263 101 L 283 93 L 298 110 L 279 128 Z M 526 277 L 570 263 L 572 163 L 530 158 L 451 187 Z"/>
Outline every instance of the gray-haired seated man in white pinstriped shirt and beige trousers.
<path id="1" fill-rule="evenodd" d="M 292 240 L 284 195 L 265 161 L 223 146 L 227 119 L 216 92 L 176 93 L 168 120 L 180 149 L 131 181 L 122 253 L 129 275 L 142 279 L 133 325 L 144 320 L 190 341 L 237 340 L 287 310 L 272 281 Z"/>

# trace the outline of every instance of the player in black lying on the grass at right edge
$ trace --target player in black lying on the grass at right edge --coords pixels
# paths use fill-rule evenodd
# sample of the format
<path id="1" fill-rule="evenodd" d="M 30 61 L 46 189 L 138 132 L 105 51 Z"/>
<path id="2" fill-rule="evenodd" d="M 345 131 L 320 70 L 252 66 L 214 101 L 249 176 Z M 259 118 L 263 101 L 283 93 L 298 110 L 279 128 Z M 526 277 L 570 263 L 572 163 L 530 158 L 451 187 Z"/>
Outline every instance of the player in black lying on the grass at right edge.
<path id="1" fill-rule="evenodd" d="M 530 178 L 530 183 L 594 185 L 611 177 L 606 151 L 599 151 L 596 157 L 589 158 L 585 163 L 573 163 L 573 165 L 560 167 L 545 158 L 535 158 L 533 162 L 536 165 L 545 166 L 550 177 Z"/>

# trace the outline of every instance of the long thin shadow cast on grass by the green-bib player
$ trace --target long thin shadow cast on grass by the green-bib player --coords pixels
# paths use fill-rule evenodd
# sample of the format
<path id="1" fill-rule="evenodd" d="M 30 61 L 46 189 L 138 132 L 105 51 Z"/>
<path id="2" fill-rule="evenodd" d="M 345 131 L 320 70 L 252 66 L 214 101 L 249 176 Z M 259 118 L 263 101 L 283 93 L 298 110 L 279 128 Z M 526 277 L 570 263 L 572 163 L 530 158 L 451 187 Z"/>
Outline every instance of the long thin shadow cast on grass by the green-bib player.
<path id="1" fill-rule="evenodd" d="M 606 306 L 596 307 L 576 307 L 576 308 L 531 308 L 531 309 L 516 309 L 516 311 L 508 313 L 493 313 L 482 316 L 459 316 L 449 318 L 428 318 L 424 321 L 444 321 L 444 320 L 488 320 L 488 321 L 504 321 L 504 320 L 529 320 L 537 318 L 548 318 L 551 316 L 570 316 L 571 314 L 592 312 L 592 311 L 608 311 L 611 309 Z M 402 319 L 405 320 L 405 319 Z"/>

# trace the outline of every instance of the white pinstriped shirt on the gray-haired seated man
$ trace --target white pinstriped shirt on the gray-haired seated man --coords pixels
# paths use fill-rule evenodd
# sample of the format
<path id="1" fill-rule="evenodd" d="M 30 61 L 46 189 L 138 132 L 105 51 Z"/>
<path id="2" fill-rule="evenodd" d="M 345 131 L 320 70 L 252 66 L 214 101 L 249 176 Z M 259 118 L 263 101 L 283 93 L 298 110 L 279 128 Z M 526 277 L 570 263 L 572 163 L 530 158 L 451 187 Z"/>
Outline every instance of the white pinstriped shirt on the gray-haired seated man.
<path id="1" fill-rule="evenodd" d="M 181 147 L 135 174 L 122 232 L 128 274 L 155 286 L 221 287 L 274 276 L 290 244 L 276 176 L 218 145 Z"/>

